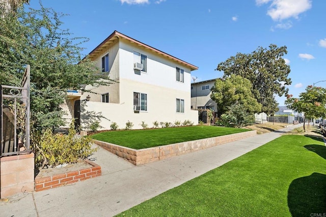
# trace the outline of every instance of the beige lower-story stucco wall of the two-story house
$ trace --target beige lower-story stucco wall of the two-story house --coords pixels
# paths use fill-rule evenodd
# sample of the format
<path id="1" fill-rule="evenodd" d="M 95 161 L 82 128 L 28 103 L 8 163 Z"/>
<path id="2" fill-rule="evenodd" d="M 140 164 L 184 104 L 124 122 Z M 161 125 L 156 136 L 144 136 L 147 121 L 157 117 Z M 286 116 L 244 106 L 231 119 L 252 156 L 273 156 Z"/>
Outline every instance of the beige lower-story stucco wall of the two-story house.
<path id="1" fill-rule="evenodd" d="M 188 92 L 176 92 L 173 89 L 157 87 L 155 85 L 142 84 L 132 80 L 120 79 L 121 99 L 117 103 L 86 102 L 85 112 L 94 111 L 101 113 L 109 120 L 101 119 L 100 125 L 110 129 L 110 125 L 116 122 L 119 128 L 125 128 L 126 122 L 134 124 L 133 129 L 141 129 L 142 121 L 153 127 L 153 122 L 171 122 L 190 120 L 198 124 L 198 111 L 190 109 L 190 97 Z M 133 92 L 147 94 L 147 111 L 134 113 Z M 184 113 L 176 112 L 176 98 L 184 99 Z M 83 124 L 83 120 L 82 120 Z"/>

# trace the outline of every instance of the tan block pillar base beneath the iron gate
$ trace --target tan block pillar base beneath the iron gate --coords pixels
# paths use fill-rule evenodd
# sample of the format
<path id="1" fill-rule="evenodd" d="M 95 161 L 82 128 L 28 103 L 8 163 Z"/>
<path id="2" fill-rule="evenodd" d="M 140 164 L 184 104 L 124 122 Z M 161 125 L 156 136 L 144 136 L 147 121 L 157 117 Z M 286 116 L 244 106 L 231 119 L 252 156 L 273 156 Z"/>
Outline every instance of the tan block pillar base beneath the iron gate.
<path id="1" fill-rule="evenodd" d="M 34 191 L 34 153 L 0 158 L 0 198 Z"/>

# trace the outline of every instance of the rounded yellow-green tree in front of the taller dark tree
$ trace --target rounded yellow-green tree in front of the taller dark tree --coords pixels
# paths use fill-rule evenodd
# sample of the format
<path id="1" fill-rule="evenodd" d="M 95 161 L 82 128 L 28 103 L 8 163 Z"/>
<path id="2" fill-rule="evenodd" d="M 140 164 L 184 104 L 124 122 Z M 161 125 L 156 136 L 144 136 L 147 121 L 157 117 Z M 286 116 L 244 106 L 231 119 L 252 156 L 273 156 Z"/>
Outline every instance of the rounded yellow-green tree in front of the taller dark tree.
<path id="1" fill-rule="evenodd" d="M 217 103 L 218 117 L 226 113 L 233 104 L 241 104 L 248 113 L 260 112 L 261 105 L 251 92 L 250 80 L 239 75 L 230 75 L 224 80 L 216 79 L 210 98 Z"/>

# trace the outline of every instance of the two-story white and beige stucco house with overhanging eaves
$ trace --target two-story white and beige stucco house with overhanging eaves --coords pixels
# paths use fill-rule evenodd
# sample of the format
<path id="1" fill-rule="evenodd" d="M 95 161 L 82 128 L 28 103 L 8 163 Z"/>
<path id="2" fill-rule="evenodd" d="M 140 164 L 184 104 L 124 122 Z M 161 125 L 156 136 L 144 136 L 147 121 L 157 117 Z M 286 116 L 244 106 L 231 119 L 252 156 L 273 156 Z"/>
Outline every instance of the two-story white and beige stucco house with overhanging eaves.
<path id="1" fill-rule="evenodd" d="M 191 71 L 197 66 L 117 31 L 92 50 L 89 57 L 116 83 L 96 88 L 88 85 L 86 90 L 91 92 L 79 95 L 68 93 L 74 117 L 78 117 L 76 103 L 84 102 L 80 109 L 82 126 L 90 112 L 107 118 L 100 122 L 105 129 L 110 129 L 113 122 L 125 128 L 127 121 L 134 124 L 133 129 L 142 128 L 143 121 L 148 127 L 155 121 L 189 120 L 198 124 L 198 112 L 191 110 Z"/>

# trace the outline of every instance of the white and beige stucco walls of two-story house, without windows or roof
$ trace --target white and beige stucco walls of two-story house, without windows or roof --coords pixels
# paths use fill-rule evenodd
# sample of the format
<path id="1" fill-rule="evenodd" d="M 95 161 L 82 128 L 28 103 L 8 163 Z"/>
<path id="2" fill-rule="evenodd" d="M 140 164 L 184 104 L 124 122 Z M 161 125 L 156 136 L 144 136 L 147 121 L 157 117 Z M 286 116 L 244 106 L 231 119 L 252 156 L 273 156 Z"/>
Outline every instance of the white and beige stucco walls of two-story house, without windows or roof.
<path id="1" fill-rule="evenodd" d="M 86 102 L 84 113 L 101 113 L 100 125 L 110 129 L 112 122 L 119 128 L 125 128 L 126 122 L 134 124 L 133 129 L 141 129 L 142 121 L 153 127 L 153 122 L 171 122 L 185 120 L 198 124 L 198 111 L 191 110 L 191 69 L 162 57 L 150 49 L 145 49 L 128 40 L 119 40 L 104 50 L 95 61 L 101 67 L 101 57 L 110 54 L 110 78 L 118 78 L 119 83 L 110 87 L 92 89 L 95 93 L 110 93 L 110 103 L 100 102 L 99 94 L 85 93 L 91 96 L 91 101 Z M 147 56 L 147 72 L 133 69 L 133 51 L 138 51 Z M 116 56 L 114 56 L 116 55 Z M 176 81 L 176 67 L 184 70 L 184 83 Z M 112 76 L 114 75 L 114 76 Z M 88 86 L 88 88 L 92 88 Z M 147 94 L 147 111 L 134 113 L 133 92 Z M 118 93 L 118 100 L 112 101 L 113 93 Z M 184 100 L 184 113 L 176 112 L 176 99 Z M 83 114 L 81 114 L 83 125 Z M 85 116 L 84 116 L 85 118 Z M 84 120 L 86 122 L 87 120 Z"/>

